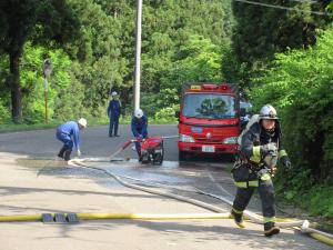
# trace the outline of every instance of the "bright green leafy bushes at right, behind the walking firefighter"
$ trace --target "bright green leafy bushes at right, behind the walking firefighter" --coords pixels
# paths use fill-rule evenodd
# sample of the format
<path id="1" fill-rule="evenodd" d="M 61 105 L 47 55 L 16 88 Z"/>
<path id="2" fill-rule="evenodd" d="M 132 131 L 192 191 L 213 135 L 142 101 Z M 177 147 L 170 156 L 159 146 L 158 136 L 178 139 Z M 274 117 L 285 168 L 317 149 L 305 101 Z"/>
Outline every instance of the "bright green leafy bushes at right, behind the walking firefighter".
<path id="1" fill-rule="evenodd" d="M 273 66 L 251 97 L 258 107 L 276 106 L 286 147 L 294 162 L 281 178 L 289 199 L 307 194 L 313 184 L 333 180 L 333 29 L 322 32 L 307 50 L 275 54 Z M 317 188 L 316 188 L 317 189 Z M 326 203 L 332 206 L 332 200 Z M 333 216 L 332 207 L 330 216 Z"/>

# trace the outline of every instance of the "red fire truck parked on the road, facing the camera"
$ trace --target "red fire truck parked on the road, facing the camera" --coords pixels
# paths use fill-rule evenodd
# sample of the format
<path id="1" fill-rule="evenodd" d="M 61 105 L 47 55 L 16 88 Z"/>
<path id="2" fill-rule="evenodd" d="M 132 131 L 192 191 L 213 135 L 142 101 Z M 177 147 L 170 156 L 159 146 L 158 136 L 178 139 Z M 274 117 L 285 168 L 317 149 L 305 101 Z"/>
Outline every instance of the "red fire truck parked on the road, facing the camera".
<path id="1" fill-rule="evenodd" d="M 195 153 L 238 153 L 240 98 L 235 84 L 183 86 L 179 117 L 179 160 Z"/>

